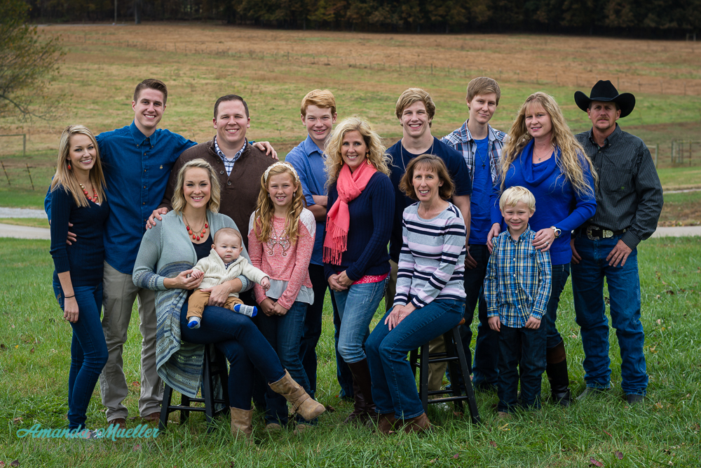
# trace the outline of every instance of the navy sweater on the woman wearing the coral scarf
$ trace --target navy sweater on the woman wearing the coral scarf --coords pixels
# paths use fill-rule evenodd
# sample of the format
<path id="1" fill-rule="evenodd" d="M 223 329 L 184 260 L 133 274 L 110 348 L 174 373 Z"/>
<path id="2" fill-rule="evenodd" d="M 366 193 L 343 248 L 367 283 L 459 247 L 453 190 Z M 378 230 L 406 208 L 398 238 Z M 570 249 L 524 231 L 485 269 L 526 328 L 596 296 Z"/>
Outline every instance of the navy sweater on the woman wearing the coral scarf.
<path id="1" fill-rule="evenodd" d="M 329 187 L 329 209 L 338 198 L 339 191 L 334 183 Z M 327 279 L 343 270 L 353 281 L 358 281 L 365 275 L 386 274 L 390 271 L 387 244 L 392 234 L 394 205 L 394 188 L 390 178 L 379 171 L 374 173 L 365 190 L 348 203 L 351 215 L 348 249 L 343 252 L 341 265 L 324 263 Z"/>

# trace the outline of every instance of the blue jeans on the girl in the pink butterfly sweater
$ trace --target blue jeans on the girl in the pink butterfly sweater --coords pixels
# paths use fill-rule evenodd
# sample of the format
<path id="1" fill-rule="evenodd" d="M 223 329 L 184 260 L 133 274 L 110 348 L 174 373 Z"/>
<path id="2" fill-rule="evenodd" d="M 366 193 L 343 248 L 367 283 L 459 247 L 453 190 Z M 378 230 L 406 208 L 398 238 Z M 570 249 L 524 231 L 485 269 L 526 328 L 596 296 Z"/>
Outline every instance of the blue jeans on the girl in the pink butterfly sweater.
<path id="1" fill-rule="evenodd" d="M 309 380 L 299 359 L 299 344 L 304 331 L 304 319 L 307 305 L 304 302 L 294 302 L 287 314 L 283 316 L 267 316 L 260 312 L 258 328 L 275 349 L 280 358 L 280 363 L 287 369 L 290 376 L 304 391 L 311 392 Z M 276 394 L 268 387 L 266 389 L 266 421 L 287 424 L 287 400 L 284 396 Z"/>

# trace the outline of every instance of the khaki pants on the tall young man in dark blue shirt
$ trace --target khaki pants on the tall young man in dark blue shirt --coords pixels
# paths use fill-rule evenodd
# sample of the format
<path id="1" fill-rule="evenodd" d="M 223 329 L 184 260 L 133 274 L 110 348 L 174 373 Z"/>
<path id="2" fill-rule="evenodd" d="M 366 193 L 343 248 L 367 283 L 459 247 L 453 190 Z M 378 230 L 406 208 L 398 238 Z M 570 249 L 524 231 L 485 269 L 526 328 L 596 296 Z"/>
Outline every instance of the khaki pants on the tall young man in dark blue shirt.
<path id="1" fill-rule="evenodd" d="M 138 299 L 139 330 L 142 335 L 139 415 L 143 417 L 160 411 L 163 381 L 156 373 L 156 294 L 149 289 L 137 288 L 132 275 L 118 272 L 107 262 L 104 262 L 102 293 L 102 331 L 108 356 L 100 374 L 100 394 L 102 404 L 107 407 L 107 420 L 128 417 L 128 410 L 122 403 L 129 393 L 122 350 L 135 299 Z"/>

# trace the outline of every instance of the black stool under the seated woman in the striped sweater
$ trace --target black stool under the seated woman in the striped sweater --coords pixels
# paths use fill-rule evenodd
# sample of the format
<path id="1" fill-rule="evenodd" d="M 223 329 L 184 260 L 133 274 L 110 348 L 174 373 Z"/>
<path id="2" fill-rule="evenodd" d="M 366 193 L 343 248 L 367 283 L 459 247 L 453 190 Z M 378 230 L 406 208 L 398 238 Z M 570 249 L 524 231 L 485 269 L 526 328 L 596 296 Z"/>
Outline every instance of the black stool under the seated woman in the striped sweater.
<path id="1" fill-rule="evenodd" d="M 426 343 L 426 345 L 423 345 L 421 348 L 414 349 L 414 351 L 409 353 L 409 363 L 411 363 L 411 368 L 414 369 L 414 376 L 416 376 L 416 369 L 418 369 L 418 396 L 421 398 L 424 411 L 428 410 L 429 403 L 447 403 L 449 401 L 453 401 L 460 410 L 463 410 L 463 401 L 467 401 L 472 422 L 477 424 L 479 422 L 477 401 L 475 400 L 475 392 L 472 390 L 470 368 L 465 358 L 465 350 L 463 349 L 463 342 L 460 338 L 460 330 L 458 328 L 463 323 L 465 323 L 465 319 L 458 323 L 458 326 L 443 334 L 446 352 L 428 354 L 428 343 Z M 424 356 L 426 356 L 426 359 L 423 359 Z M 452 380 L 449 390 L 428 390 L 428 364 L 437 362 L 448 363 Z M 458 375 L 463 377 L 465 385 L 464 395 L 460 389 L 461 386 L 459 385 Z M 444 396 L 443 398 L 431 400 L 428 399 L 429 395 L 443 394 L 450 394 L 451 396 Z"/>

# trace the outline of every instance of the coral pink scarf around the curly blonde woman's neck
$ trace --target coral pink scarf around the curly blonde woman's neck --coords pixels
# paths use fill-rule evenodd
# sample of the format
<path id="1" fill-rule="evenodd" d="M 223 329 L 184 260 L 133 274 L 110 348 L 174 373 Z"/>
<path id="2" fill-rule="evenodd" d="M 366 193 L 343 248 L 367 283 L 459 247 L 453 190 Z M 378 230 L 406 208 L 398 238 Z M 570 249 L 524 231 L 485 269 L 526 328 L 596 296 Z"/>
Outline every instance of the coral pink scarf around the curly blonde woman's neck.
<path id="1" fill-rule="evenodd" d="M 351 215 L 348 213 L 348 203 L 365 190 L 367 182 L 377 172 L 369 161 L 362 163 L 351 173 L 347 164 L 343 164 L 336 189 L 339 198 L 331 207 L 326 218 L 326 237 L 324 239 L 324 262 L 341 265 L 341 256 L 348 248 L 348 227 L 351 225 Z"/>

